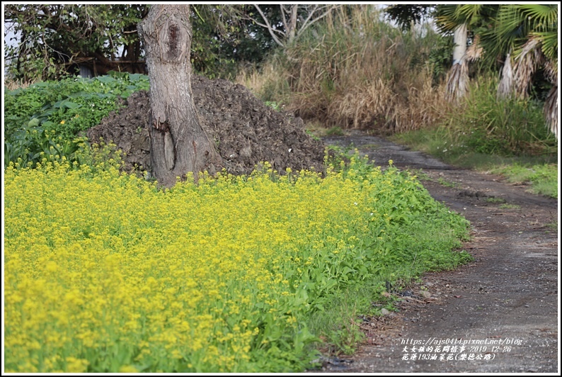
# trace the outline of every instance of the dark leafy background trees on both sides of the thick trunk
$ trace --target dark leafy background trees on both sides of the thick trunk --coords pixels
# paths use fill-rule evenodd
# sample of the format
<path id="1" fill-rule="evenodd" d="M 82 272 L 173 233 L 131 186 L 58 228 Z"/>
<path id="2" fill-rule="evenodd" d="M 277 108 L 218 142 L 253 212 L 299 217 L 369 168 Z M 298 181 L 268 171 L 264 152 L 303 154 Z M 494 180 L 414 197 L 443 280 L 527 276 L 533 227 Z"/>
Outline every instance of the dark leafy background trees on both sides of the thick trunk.
<path id="1" fill-rule="evenodd" d="M 261 6 L 266 12 L 278 6 Z M 8 4 L 4 9 L 4 58 L 17 80 L 59 79 L 108 71 L 146 73 L 137 23 L 146 4 Z M 250 6 L 192 6 L 191 59 L 195 72 L 210 78 L 233 78 L 242 62 L 259 63 L 276 47 L 268 30 L 241 17 Z M 253 6 L 251 7 L 253 9 Z"/>

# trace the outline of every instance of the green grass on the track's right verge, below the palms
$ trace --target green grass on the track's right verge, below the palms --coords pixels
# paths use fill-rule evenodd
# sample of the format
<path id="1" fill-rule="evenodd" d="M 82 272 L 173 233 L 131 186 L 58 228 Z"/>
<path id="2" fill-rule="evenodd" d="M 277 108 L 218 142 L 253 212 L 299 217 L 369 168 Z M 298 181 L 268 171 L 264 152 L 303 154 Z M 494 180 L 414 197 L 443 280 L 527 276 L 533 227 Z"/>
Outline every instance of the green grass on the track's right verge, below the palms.
<path id="1" fill-rule="evenodd" d="M 391 140 L 448 164 L 505 176 L 529 191 L 558 198 L 557 140 L 544 125 L 536 99 L 495 99 L 497 79 L 483 80 L 459 109 L 432 128 L 396 134 Z"/>

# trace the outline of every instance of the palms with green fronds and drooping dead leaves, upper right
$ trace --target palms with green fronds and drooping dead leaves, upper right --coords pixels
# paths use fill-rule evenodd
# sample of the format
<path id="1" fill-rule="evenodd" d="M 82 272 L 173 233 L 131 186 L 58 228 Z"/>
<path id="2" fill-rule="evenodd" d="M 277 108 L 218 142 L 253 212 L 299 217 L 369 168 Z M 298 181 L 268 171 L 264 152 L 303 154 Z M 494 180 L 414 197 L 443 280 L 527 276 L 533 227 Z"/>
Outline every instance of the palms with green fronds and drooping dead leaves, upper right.
<path id="1" fill-rule="evenodd" d="M 455 32 L 453 67 L 447 79 L 447 99 L 466 93 L 469 56 L 483 50 L 483 58 L 495 64 L 504 59 L 498 97 L 527 96 L 534 72 L 543 67 L 553 87 L 546 98 L 546 123 L 558 138 L 558 6 L 556 4 L 460 4 L 437 7 L 437 26 Z M 464 31 L 466 30 L 466 32 Z M 466 49 L 466 38 L 473 44 Z M 464 40 L 463 40 L 464 38 Z M 462 57 L 459 54 L 464 53 Z"/>

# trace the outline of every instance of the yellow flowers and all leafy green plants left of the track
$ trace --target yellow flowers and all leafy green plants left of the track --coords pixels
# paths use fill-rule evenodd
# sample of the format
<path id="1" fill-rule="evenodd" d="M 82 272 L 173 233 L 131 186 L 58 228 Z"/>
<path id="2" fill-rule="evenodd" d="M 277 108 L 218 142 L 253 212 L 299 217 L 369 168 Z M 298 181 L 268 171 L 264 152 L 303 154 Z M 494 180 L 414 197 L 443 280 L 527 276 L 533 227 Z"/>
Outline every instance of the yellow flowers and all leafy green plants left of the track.
<path id="1" fill-rule="evenodd" d="M 168 191 L 120 173 L 81 133 L 147 84 L 5 92 L 6 371 L 302 371 L 352 353 L 388 286 L 471 260 L 466 220 L 350 151 Z"/>

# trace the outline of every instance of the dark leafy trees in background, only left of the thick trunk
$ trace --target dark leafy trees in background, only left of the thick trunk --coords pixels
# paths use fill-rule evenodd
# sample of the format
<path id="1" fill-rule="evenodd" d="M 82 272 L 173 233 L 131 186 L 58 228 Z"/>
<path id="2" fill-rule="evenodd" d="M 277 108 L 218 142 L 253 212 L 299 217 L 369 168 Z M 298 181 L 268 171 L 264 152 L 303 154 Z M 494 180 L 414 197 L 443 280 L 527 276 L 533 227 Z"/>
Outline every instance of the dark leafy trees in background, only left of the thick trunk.
<path id="1" fill-rule="evenodd" d="M 136 29 L 147 11 L 129 4 L 8 4 L 6 33 L 13 37 L 4 57 L 10 73 L 24 81 L 56 79 L 77 73 L 78 64 L 89 64 L 95 74 L 141 72 Z"/>

